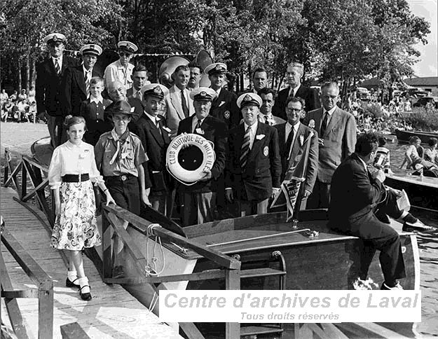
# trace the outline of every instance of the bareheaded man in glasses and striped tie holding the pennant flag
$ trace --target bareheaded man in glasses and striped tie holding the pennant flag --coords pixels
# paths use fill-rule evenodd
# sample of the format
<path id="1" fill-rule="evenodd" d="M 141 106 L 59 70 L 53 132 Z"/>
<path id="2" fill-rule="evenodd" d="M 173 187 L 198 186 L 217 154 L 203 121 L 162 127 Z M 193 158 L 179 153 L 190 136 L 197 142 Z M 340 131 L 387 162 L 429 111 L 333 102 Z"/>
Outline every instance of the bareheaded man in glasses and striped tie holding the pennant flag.
<path id="1" fill-rule="evenodd" d="M 306 209 L 306 201 L 313 191 L 318 170 L 318 137 L 317 132 L 310 127 L 300 123 L 303 116 L 304 100 L 297 97 L 289 97 L 286 102 L 287 123 L 275 125 L 278 131 L 280 144 L 280 156 L 282 160 L 281 181 L 285 179 L 285 174 L 294 163 L 297 155 L 305 151 L 304 141 L 310 133 L 310 148 L 306 170 L 306 181 L 301 189 L 303 190 L 303 200 L 301 200 L 301 209 Z M 292 133 L 292 134 L 291 134 Z"/>

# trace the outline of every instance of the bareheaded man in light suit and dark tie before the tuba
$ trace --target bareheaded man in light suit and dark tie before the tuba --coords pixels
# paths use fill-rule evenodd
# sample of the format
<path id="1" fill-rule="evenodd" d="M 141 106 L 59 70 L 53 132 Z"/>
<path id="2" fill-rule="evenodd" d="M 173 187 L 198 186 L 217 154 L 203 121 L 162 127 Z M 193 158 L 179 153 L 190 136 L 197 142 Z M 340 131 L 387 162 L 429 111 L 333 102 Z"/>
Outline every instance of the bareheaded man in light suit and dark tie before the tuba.
<path id="1" fill-rule="evenodd" d="M 167 97 L 166 123 L 170 128 L 172 139 L 177 136 L 178 125 L 181 120 L 189 118 L 195 113 L 193 100 L 187 84 L 190 78 L 190 68 L 186 65 L 178 66 L 172 74 L 174 84 L 169 89 Z"/>

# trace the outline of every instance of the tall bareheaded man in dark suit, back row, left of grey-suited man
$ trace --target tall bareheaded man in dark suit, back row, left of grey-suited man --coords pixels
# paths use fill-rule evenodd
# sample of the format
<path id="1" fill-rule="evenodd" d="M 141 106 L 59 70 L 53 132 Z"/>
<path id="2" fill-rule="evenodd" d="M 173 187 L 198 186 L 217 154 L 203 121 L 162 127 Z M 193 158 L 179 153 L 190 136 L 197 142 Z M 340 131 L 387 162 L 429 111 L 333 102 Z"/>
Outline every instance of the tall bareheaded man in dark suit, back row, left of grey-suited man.
<path id="1" fill-rule="evenodd" d="M 289 87 L 278 92 L 278 97 L 275 99 L 275 106 L 273 109 L 275 116 L 280 116 L 280 118 L 285 120 L 287 119 L 285 106 L 288 97 L 301 97 L 301 99 L 306 102 L 304 107 L 306 112 L 320 108 L 320 99 L 318 98 L 316 91 L 313 90 L 313 88 L 301 85 L 303 74 L 303 64 L 300 64 L 299 62 L 291 62 L 287 66 L 286 81 L 289 83 Z"/>

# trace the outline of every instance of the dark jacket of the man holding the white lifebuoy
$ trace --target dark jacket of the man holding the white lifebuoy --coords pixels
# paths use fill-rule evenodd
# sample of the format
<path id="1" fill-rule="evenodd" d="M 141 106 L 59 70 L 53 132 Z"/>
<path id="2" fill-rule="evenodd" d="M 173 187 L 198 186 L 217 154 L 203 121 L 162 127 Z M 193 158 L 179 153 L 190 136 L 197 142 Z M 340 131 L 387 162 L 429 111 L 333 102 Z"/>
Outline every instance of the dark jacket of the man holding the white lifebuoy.
<path id="1" fill-rule="evenodd" d="M 192 130 L 193 116 L 181 120 L 178 127 L 178 135 L 184 132 L 193 133 Z M 179 191 L 182 192 L 216 192 L 219 186 L 218 179 L 220 179 L 221 174 L 224 172 L 225 162 L 226 162 L 226 125 L 224 121 L 214 118 L 212 116 L 207 116 L 203 123 L 200 125 L 204 134 L 202 135 L 205 139 L 210 140 L 214 144 L 214 153 L 216 154 L 216 160 L 212 167 L 212 179 L 209 181 L 199 181 L 192 186 L 179 185 Z M 180 151 L 184 153 L 186 150 Z M 190 150 L 188 150 L 190 151 Z M 184 156 L 184 155 L 182 155 Z"/>

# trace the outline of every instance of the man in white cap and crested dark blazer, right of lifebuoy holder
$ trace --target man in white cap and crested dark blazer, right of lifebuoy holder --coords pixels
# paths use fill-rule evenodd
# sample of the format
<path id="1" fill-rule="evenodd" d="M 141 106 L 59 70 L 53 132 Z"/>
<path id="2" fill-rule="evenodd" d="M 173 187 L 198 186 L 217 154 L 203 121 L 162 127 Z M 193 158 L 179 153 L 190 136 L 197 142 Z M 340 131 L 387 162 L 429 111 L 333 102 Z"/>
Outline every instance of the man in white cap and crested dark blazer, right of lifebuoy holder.
<path id="1" fill-rule="evenodd" d="M 243 123 L 229 132 L 226 200 L 238 200 L 241 216 L 266 214 L 269 199 L 280 191 L 277 130 L 259 123 L 259 95 L 244 93 L 237 104 L 242 110 Z"/>

